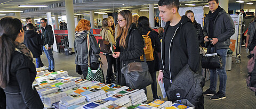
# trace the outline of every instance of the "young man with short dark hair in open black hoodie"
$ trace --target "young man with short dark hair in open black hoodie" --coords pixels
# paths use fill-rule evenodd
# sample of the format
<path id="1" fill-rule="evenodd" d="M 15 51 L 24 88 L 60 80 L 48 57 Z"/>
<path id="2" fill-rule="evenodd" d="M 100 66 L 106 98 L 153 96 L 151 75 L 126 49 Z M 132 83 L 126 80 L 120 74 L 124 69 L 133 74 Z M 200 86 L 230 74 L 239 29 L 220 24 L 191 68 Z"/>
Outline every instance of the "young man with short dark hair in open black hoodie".
<path id="1" fill-rule="evenodd" d="M 190 69 L 199 69 L 199 48 L 196 29 L 191 20 L 180 16 L 179 0 L 160 0 L 158 2 L 159 16 L 166 22 L 161 44 L 161 59 L 157 80 L 164 83 L 165 91 L 178 75 L 179 71 L 188 64 Z M 172 100 L 168 98 L 168 100 Z M 203 108 L 203 96 L 196 108 Z M 199 106 L 200 105 L 200 106 Z"/>

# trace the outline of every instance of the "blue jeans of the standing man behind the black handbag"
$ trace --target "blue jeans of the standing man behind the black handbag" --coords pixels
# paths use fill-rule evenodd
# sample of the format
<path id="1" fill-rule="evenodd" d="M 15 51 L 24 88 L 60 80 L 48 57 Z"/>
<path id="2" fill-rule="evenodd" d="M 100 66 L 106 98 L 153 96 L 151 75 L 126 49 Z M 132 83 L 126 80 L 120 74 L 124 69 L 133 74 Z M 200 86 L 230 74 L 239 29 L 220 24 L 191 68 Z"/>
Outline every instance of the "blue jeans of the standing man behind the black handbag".
<path id="1" fill-rule="evenodd" d="M 211 52 L 213 52 L 213 49 L 214 47 L 211 48 Z M 210 69 L 210 90 L 216 91 L 218 74 L 219 74 L 219 77 L 220 77 L 219 93 L 226 94 L 227 73 L 226 73 L 225 66 L 226 66 L 228 49 L 218 49 L 216 50 L 216 52 L 221 56 L 222 67 L 220 69 Z"/>

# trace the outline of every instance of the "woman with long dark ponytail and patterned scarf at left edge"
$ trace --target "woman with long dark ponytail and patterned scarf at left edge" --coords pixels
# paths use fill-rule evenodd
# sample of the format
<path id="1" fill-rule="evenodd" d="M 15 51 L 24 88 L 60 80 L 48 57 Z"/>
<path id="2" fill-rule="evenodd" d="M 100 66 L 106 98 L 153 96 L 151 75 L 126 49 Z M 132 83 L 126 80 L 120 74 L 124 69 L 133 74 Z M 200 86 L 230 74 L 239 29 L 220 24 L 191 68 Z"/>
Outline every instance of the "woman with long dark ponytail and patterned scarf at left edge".
<path id="1" fill-rule="evenodd" d="M 36 77 L 33 55 L 23 40 L 19 19 L 6 16 L 0 20 L 0 86 L 6 95 L 6 108 L 44 108 L 32 86 Z"/>

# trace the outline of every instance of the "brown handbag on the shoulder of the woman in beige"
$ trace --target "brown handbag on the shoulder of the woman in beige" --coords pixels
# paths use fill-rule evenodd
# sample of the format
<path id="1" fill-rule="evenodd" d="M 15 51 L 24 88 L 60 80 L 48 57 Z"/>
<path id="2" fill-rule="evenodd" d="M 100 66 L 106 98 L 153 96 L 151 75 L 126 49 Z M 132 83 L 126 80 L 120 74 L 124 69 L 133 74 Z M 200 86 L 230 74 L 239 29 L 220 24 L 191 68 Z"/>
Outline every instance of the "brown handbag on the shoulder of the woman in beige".
<path id="1" fill-rule="evenodd" d="M 111 45 L 109 44 L 109 41 L 104 40 L 105 39 L 105 33 L 106 33 L 106 31 L 104 32 L 103 39 L 98 41 L 99 46 L 100 46 L 100 52 L 111 53 L 111 51 L 110 51 L 110 46 Z"/>

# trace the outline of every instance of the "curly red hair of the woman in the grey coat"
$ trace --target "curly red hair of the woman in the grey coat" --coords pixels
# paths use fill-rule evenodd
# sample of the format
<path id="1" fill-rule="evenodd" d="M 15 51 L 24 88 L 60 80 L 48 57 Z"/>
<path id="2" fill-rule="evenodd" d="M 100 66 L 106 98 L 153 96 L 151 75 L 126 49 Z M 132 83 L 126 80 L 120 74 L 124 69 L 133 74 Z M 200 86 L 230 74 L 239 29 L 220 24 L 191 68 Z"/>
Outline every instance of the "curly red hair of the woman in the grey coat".
<path id="1" fill-rule="evenodd" d="M 81 20 L 78 22 L 75 31 L 84 31 L 84 30 L 89 31 L 90 29 L 91 29 L 91 27 L 90 27 L 90 21 L 89 21 L 89 20 L 85 20 L 85 19 L 81 19 Z"/>

